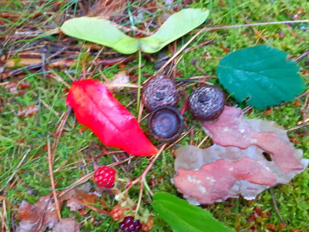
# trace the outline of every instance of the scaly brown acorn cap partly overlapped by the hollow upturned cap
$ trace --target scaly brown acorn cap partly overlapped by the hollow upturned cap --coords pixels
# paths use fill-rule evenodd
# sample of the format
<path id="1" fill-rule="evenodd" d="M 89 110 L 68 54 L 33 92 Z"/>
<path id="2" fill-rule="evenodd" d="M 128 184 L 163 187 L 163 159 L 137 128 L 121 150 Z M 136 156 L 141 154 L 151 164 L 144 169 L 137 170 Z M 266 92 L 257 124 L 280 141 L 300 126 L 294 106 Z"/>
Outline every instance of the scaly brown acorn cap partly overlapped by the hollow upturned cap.
<path id="1" fill-rule="evenodd" d="M 176 83 L 163 75 L 150 79 L 142 89 L 142 102 L 148 111 L 158 106 L 176 106 L 178 94 Z"/>

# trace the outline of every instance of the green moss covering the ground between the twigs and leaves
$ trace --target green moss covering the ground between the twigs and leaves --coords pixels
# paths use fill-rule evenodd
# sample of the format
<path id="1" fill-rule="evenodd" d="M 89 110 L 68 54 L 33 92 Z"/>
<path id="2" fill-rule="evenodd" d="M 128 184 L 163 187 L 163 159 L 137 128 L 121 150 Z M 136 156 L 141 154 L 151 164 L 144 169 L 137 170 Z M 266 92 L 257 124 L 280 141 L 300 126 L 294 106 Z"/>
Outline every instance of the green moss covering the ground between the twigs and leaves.
<path id="1" fill-rule="evenodd" d="M 73 1 L 74 2 L 74 1 Z M 221 4 L 222 2 L 222 4 Z M 302 18 L 306 18 L 309 9 L 309 2 L 306 0 L 300 1 L 232 1 L 232 7 L 229 6 L 227 1 L 219 0 L 204 0 L 193 3 L 194 7 L 209 7 L 212 6 L 210 13 L 210 20 L 215 24 L 221 25 L 231 25 L 232 18 L 234 24 L 246 24 L 246 23 L 256 23 L 256 22 L 269 22 L 277 20 L 289 20 L 289 15 L 297 13 L 299 7 L 303 8 Z M 45 5 L 44 5 L 45 6 Z M 20 1 L 14 1 L 14 5 L 11 7 L 15 8 L 16 12 L 24 11 L 24 6 Z M 46 7 L 46 6 L 45 6 Z M 48 6 L 49 7 L 49 6 Z M 62 7 L 63 11 L 67 9 L 75 8 L 73 3 L 66 4 Z M 42 11 L 43 8 L 38 8 L 37 11 Z M 47 11 L 44 8 L 44 11 Z M 14 11 L 14 12 L 15 12 Z M 24 11 L 25 13 L 30 12 L 29 10 Z M 24 20 L 17 22 L 11 22 L 6 20 L 6 23 L 11 23 L 12 27 L 22 25 L 23 23 L 30 22 L 30 17 L 25 17 Z M 208 20 L 208 22 L 210 22 Z M 290 55 L 298 56 L 302 54 L 308 44 L 307 31 L 303 30 L 297 25 L 291 25 L 291 29 L 300 37 L 306 38 L 301 40 L 295 38 L 295 36 L 289 31 L 289 29 L 283 25 L 268 25 L 268 26 L 256 26 L 256 27 L 244 27 L 244 28 L 234 28 L 228 30 L 216 30 L 214 32 L 202 33 L 190 46 L 194 47 L 198 43 L 214 39 L 214 42 L 210 45 L 202 46 L 193 50 L 192 52 L 184 52 L 184 57 L 178 63 L 178 71 L 182 73 L 181 78 L 189 78 L 191 76 L 197 75 L 216 75 L 216 67 L 219 61 L 226 55 L 221 46 L 231 48 L 231 51 L 245 48 L 248 46 L 253 46 L 256 43 L 257 37 L 255 30 L 260 33 L 263 29 L 263 36 L 266 37 L 267 41 L 259 40 L 257 44 L 267 44 L 278 49 L 286 51 Z M 285 37 L 280 39 L 277 35 L 278 30 L 284 32 Z M 51 37 L 48 37 L 51 39 Z M 190 36 L 186 36 L 178 41 L 178 49 L 190 39 Z M 33 39 L 32 41 L 35 41 Z M 53 38 L 52 41 L 54 41 Z M 32 42 L 30 41 L 30 42 Z M 27 42 L 25 40 L 17 41 L 16 43 Z M 11 46 L 11 45 L 10 45 Z M 169 53 L 167 49 L 162 52 Z M 211 56 L 208 59 L 204 59 L 203 55 Z M 155 56 L 155 55 L 154 55 Z M 17 58 L 17 57 L 16 57 Z M 89 57 L 89 59 L 92 57 Z M 82 54 L 78 58 L 77 70 L 75 75 L 82 72 L 81 61 L 86 59 L 86 50 L 83 50 Z M 195 59 L 198 67 L 192 65 L 191 61 Z M 155 73 L 153 63 L 149 60 L 143 59 L 142 61 L 145 65 L 142 68 L 143 73 L 153 74 Z M 127 68 L 136 67 L 137 61 L 131 62 L 127 65 Z M 299 62 L 301 69 L 306 69 L 304 60 Z M 73 68 L 72 68 L 73 69 Z M 112 78 L 112 76 L 120 71 L 117 66 L 111 67 L 109 69 L 103 70 L 104 75 L 107 78 Z M 201 70 L 205 71 L 203 73 Z M 54 69 L 53 72 L 60 75 L 67 83 L 71 83 L 70 79 L 66 74 L 61 71 Z M 73 75 L 74 76 L 74 75 Z M 308 76 L 302 76 L 306 83 L 309 83 Z M 54 79 L 43 79 L 42 75 L 33 75 L 28 73 L 25 78 L 31 83 L 31 88 L 28 90 L 27 94 L 23 96 L 13 96 L 10 92 L 4 91 L 4 87 L 0 86 L 0 98 L 5 100 L 4 106 L 2 106 L 2 112 L 0 113 L 0 179 L 1 186 L 6 186 L 6 181 L 8 178 L 16 171 L 17 166 L 23 155 L 26 155 L 25 161 L 18 169 L 18 173 L 15 175 L 17 178 L 17 185 L 13 188 L 6 186 L 6 196 L 9 199 L 9 205 L 12 207 L 7 208 L 7 215 L 10 217 L 11 212 L 15 213 L 22 200 L 27 200 L 28 202 L 35 202 L 40 196 L 46 195 L 50 192 L 50 178 L 48 171 L 48 161 L 47 153 L 44 149 L 47 143 L 47 137 L 53 143 L 53 136 L 51 133 L 56 129 L 56 124 L 60 116 L 56 116 L 51 110 L 45 108 L 44 105 L 39 103 L 40 111 L 33 117 L 29 118 L 19 118 L 15 116 L 14 112 L 19 110 L 17 103 L 21 107 L 26 105 L 32 105 L 36 101 L 44 100 L 48 105 L 53 107 L 59 114 L 66 111 L 65 106 L 66 92 L 62 92 L 63 85 Z M 99 79 L 99 74 L 95 74 L 93 78 Z M 143 77 L 143 80 L 146 78 Z M 216 78 L 209 79 L 209 82 L 219 85 Z M 193 87 L 187 88 L 186 91 L 191 92 Z M 127 105 L 132 101 L 133 95 L 120 95 L 116 94 L 116 98 L 123 104 Z M 260 118 L 264 120 L 275 121 L 278 125 L 285 127 L 286 129 L 294 127 L 301 118 L 301 106 L 304 104 L 304 98 L 298 100 L 299 105 L 295 105 L 294 102 L 287 103 L 280 107 L 273 107 L 270 113 L 265 114 L 262 110 L 252 109 L 250 114 L 246 116 L 248 118 Z M 181 108 L 184 104 L 183 99 L 181 99 L 178 107 Z M 237 103 L 233 96 L 228 100 L 229 105 L 237 105 L 244 107 L 244 103 Z M 131 105 L 129 108 L 135 116 L 136 106 Z M 143 116 L 146 115 L 144 112 Z M 184 114 L 188 118 L 187 123 L 189 127 L 194 126 L 194 144 L 198 144 L 204 137 L 205 133 L 201 130 L 198 125 L 197 120 L 192 119 L 189 112 Z M 144 131 L 147 130 L 146 127 L 147 120 L 141 123 L 141 127 Z M 59 141 L 56 159 L 54 162 L 53 169 L 57 169 L 61 164 L 63 164 L 70 155 L 73 155 L 68 163 L 73 163 L 76 161 L 81 161 L 86 159 L 86 166 L 82 165 L 81 162 L 72 165 L 75 166 L 73 169 L 66 169 L 54 174 L 54 178 L 57 181 L 56 188 L 62 190 L 71 183 L 76 181 L 81 176 L 92 171 L 91 160 L 88 159 L 90 155 L 96 155 L 101 153 L 102 144 L 99 140 L 92 134 L 88 129 L 80 133 L 80 129 L 83 126 L 75 123 L 73 114 L 71 114 L 67 120 L 65 126 L 65 133 L 61 136 Z M 290 138 L 297 138 L 299 142 L 294 142 L 296 148 L 303 149 L 304 157 L 309 158 L 309 137 L 306 128 L 300 128 L 297 130 L 290 131 L 288 136 Z M 305 136 L 303 136 L 305 135 Z M 99 144 L 100 148 L 85 149 L 82 152 L 79 150 L 83 147 L 89 145 L 89 141 L 95 144 Z M 156 145 L 156 141 L 152 140 Z M 209 142 L 210 144 L 211 142 Z M 175 187 L 171 184 L 170 179 L 174 176 L 174 157 L 172 154 L 173 149 L 179 147 L 180 145 L 190 144 L 190 135 L 187 135 L 179 143 L 177 143 L 173 148 L 166 151 L 161 155 L 155 162 L 154 167 L 147 174 L 147 180 L 154 178 L 154 186 L 150 185 L 152 191 L 167 191 L 172 194 L 179 195 Z M 30 148 L 30 150 L 28 150 Z M 112 150 L 116 150 L 111 148 Z M 99 160 L 100 165 L 105 165 L 114 162 L 112 156 L 101 157 Z M 128 170 L 130 178 L 138 177 L 142 174 L 142 171 L 148 165 L 148 158 L 145 157 L 134 157 L 134 165 Z M 119 175 L 123 178 L 126 177 L 125 173 L 120 167 L 116 167 Z M 152 175 L 154 174 L 154 175 Z M 308 212 L 309 212 L 309 169 L 307 168 L 303 173 L 297 175 L 291 182 L 290 185 L 279 185 L 273 189 L 277 204 L 283 217 L 286 221 L 286 228 L 281 228 L 281 231 L 291 231 L 292 229 L 301 229 L 302 231 L 309 231 L 308 225 Z M 130 196 L 134 200 L 137 200 L 139 193 L 139 186 L 132 187 L 130 190 Z M 146 195 L 142 197 L 143 207 L 149 208 L 150 201 Z M 104 197 L 104 201 L 107 205 L 115 204 L 111 197 Z M 274 224 L 279 226 L 280 219 L 278 218 L 275 209 L 273 207 L 273 202 L 271 195 L 268 190 L 262 192 L 258 195 L 258 200 L 256 202 L 251 202 L 249 206 L 248 201 L 239 200 L 239 215 L 238 215 L 238 229 L 241 231 L 250 231 L 250 227 L 254 224 L 248 221 L 250 214 L 254 212 L 254 207 L 260 207 L 263 212 L 271 212 L 271 216 L 265 218 L 259 218 L 259 223 L 256 224 L 258 231 L 268 231 L 266 224 Z M 98 207 L 101 207 L 98 205 Z M 231 202 L 216 203 L 210 208 L 210 211 L 214 214 L 214 217 L 223 221 L 226 225 L 235 227 L 235 211 L 237 207 L 237 201 L 232 199 Z M 87 216 L 80 216 L 78 212 L 70 212 L 69 208 L 65 205 L 62 208 L 62 217 L 75 217 L 79 222 L 82 221 L 82 231 L 114 231 L 118 227 L 118 224 L 113 222 L 110 218 L 104 217 L 99 213 L 86 210 Z M 9 220 L 9 219 L 8 219 Z M 94 223 L 96 221 L 96 223 Z M 10 224 L 9 224 L 10 225 Z M 155 217 L 155 227 L 151 231 L 171 231 L 171 228 L 158 216 Z"/>

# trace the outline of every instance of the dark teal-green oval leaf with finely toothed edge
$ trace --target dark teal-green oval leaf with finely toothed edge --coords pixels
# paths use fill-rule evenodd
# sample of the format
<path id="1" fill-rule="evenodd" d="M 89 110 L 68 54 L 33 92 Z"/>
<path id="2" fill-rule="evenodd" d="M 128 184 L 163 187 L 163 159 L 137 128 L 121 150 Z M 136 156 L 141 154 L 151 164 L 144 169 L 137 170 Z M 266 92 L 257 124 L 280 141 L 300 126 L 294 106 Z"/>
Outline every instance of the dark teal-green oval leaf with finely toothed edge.
<path id="1" fill-rule="evenodd" d="M 237 101 L 259 109 L 293 100 L 305 89 L 295 62 L 287 54 L 266 45 L 239 49 L 224 57 L 217 67 L 219 81 Z"/>

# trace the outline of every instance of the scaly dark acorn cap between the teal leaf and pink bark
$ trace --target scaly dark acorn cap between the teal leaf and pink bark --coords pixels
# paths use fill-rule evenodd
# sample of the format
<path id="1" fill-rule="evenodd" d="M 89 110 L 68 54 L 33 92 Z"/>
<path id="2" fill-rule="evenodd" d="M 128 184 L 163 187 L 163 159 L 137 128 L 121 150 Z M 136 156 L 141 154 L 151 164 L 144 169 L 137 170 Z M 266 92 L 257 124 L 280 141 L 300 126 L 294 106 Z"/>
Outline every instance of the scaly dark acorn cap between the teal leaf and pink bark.
<path id="1" fill-rule="evenodd" d="M 214 120 L 225 104 L 223 91 L 217 86 L 204 84 L 193 89 L 189 96 L 191 114 L 199 120 Z"/>

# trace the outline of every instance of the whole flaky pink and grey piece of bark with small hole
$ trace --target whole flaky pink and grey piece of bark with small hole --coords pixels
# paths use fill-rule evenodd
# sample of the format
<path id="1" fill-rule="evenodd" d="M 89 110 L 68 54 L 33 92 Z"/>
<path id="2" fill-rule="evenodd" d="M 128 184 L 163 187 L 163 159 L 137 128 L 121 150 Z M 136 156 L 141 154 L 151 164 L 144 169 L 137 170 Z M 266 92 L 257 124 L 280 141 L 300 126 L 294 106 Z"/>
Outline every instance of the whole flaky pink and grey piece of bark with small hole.
<path id="1" fill-rule="evenodd" d="M 246 119 L 225 107 L 218 120 L 201 122 L 214 145 L 181 146 L 172 182 L 191 204 L 213 204 L 242 195 L 252 200 L 277 184 L 288 184 L 308 166 L 287 132 L 274 122 Z M 265 152 L 271 157 L 266 159 Z"/>

